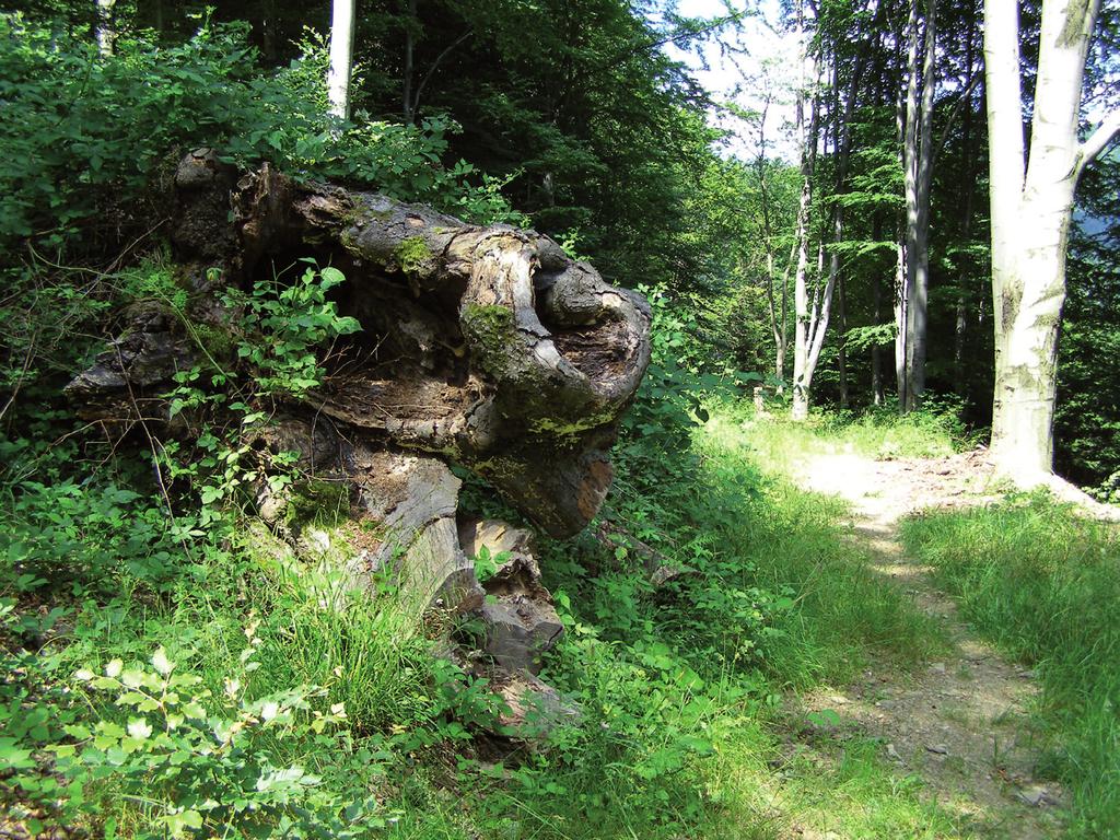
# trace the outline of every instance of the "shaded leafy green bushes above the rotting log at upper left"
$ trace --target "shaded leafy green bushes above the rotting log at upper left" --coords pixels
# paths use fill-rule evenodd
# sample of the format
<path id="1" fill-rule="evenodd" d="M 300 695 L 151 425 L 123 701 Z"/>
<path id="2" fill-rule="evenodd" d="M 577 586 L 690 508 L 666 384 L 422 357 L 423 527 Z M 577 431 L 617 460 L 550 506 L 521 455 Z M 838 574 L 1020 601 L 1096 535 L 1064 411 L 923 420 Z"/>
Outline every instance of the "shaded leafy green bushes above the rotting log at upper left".
<path id="1" fill-rule="evenodd" d="M 358 181 L 476 221 L 517 221 L 474 168 L 441 165 L 454 124 L 338 123 L 324 110 L 325 47 L 261 73 L 246 25 L 206 22 L 188 41 L 146 34 L 102 57 L 84 32 L 0 16 L 0 96 L 19 120 L 0 127 L 0 243 L 74 250 L 116 228 L 144 233 L 167 200 L 177 156 L 198 146 L 250 166 Z M 10 259 L 10 256 L 9 256 Z"/>

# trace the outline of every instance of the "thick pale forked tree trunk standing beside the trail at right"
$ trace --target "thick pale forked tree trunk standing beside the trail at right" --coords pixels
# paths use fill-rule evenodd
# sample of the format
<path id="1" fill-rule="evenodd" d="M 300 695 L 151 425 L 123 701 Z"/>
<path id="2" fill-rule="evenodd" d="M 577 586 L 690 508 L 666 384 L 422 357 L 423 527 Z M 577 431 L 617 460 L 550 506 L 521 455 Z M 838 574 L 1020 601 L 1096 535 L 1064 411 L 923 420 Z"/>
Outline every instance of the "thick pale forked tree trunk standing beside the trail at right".
<path id="1" fill-rule="evenodd" d="M 991 455 L 1020 485 L 1053 469 L 1057 339 L 1077 178 L 1120 131 L 1111 114 L 1079 142 L 1099 0 L 1044 0 L 1029 158 L 1023 136 L 1017 0 L 984 2 L 996 388 Z M 1029 159 L 1029 167 L 1027 160 Z"/>

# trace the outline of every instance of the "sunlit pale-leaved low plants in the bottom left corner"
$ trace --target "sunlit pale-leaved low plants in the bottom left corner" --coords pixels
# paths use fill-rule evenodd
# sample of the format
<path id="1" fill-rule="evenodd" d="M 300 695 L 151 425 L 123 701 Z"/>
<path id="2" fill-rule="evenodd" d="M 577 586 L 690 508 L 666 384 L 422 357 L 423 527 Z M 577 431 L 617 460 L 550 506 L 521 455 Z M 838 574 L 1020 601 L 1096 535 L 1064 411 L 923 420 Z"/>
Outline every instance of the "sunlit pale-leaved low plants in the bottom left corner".
<path id="1" fill-rule="evenodd" d="M 260 640 L 254 625 L 245 633 L 241 668 L 226 676 L 217 696 L 202 688 L 198 674 L 177 672 L 161 647 L 148 665 L 125 668 L 114 659 L 103 675 L 78 671 L 76 679 L 86 684 L 93 702 L 101 704 L 104 697 L 127 722 L 113 715 L 92 727 L 67 726 L 71 743 L 50 748 L 56 767 L 71 781 L 67 806 L 84 804 L 75 788 L 111 778 L 116 796 L 142 802 L 146 828 L 138 838 L 194 832 L 353 838 L 383 827 L 372 797 L 346 801 L 270 748 L 298 736 L 319 748 L 337 748 L 339 737 L 346 740 L 338 731 L 344 706 L 312 708 L 326 694 L 316 687 L 250 700 L 244 681 L 260 664 Z"/>

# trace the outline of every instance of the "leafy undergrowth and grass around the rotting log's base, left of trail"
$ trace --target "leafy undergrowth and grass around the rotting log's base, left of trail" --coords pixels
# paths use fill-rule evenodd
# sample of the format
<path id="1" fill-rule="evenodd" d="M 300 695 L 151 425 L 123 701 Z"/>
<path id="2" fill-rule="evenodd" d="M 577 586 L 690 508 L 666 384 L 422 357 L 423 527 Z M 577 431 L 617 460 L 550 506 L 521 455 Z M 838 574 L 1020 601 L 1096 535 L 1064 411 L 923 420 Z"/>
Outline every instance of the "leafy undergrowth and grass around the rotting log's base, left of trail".
<path id="1" fill-rule="evenodd" d="M 115 287 L 174 298 L 161 264 L 150 272 Z M 324 352 L 339 325 L 315 289 L 334 279 L 259 286 L 240 328 L 268 332 L 261 312 L 308 307 L 327 332 L 296 336 L 295 357 Z M 224 408 L 208 416 L 205 457 L 181 452 L 165 496 L 151 460 L 123 448 L 106 459 L 80 428 L 60 435 L 66 412 L 45 420 L 34 401 L 49 379 L 28 385 L 35 418 L 17 414 L 3 444 L 9 819 L 130 838 L 763 838 L 793 824 L 954 836 L 874 744 L 800 741 L 784 692 L 840 682 L 870 656 L 909 661 L 931 636 L 842 547 L 834 503 L 759 466 L 749 412 L 715 395 L 750 380 L 721 371 L 697 388 L 687 325 L 663 298 L 656 309 L 608 528 L 540 547 L 567 631 L 542 675 L 579 717 L 531 749 L 495 738 L 485 681 L 433 654 L 389 580 L 352 590 L 328 556 L 297 556 L 253 519 L 234 489 L 254 466 L 220 433 Z M 319 375 L 240 358 L 223 374 L 245 402 L 235 426 L 260 421 L 253 405 L 278 375 L 281 390 Z M 172 395 L 205 408 L 220 391 L 203 379 Z M 480 485 L 464 503 L 515 517 Z M 651 556 L 679 573 L 655 585 Z"/>

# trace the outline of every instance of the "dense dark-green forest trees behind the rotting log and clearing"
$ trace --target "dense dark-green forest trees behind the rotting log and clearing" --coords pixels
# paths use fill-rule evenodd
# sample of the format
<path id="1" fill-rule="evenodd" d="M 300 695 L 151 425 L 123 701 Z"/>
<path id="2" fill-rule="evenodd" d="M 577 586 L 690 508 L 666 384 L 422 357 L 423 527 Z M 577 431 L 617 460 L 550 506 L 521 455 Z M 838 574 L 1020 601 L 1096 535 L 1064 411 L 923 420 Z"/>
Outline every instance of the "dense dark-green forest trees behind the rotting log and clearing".
<path id="1" fill-rule="evenodd" d="M 30 4 L 26 12 L 29 24 L 53 20 L 54 27 L 71 32 L 64 36 L 55 29 L 50 36 L 55 39 L 91 31 L 97 13 L 92 4 Z M 814 390 L 820 401 L 856 410 L 885 404 L 896 392 L 890 328 L 884 325 L 894 321 L 897 251 L 906 235 L 898 115 L 914 69 L 907 64 L 906 9 L 883 3 L 869 20 L 870 13 L 823 6 L 811 34 L 812 49 L 824 69 L 809 270 L 832 273 L 837 280 Z M 282 3 L 217 3 L 208 12 L 174 3 L 116 3 L 111 15 L 122 54 L 134 50 L 138 58 L 151 60 L 157 46 L 177 48 L 185 67 L 192 56 L 197 57 L 204 69 L 221 76 L 220 84 L 230 94 L 244 88 L 241 96 L 248 100 L 239 103 L 242 108 L 250 100 L 261 102 L 270 75 L 296 82 L 302 74 L 307 83 L 315 72 L 325 72 L 326 36 L 315 32 L 329 29 L 328 3 L 298 10 Z M 204 15 L 211 21 L 209 53 L 190 40 Z M 775 25 L 792 27 L 792 15 Z M 933 404 L 951 407 L 970 428 L 982 429 L 990 421 L 992 340 L 984 85 L 981 29 L 976 22 L 980 9 L 976 3 L 949 3 L 937 9 L 937 16 L 931 75 L 935 148 L 928 202 L 927 386 Z M 1113 16 L 1114 9 L 1103 10 L 1102 35 L 1091 56 L 1089 85 L 1096 108 L 1108 104 L 1107 81 L 1114 71 L 1109 58 L 1114 55 Z M 416 143 L 413 158 L 429 155 L 450 177 L 485 185 L 495 200 L 588 256 L 610 281 L 666 290 L 679 310 L 696 319 L 697 334 L 711 347 L 712 358 L 737 370 L 774 373 L 768 296 L 788 333 L 793 317 L 788 311 L 783 315 L 782 307 L 793 306 L 788 263 L 800 178 L 797 161 L 774 157 L 773 148 L 795 127 L 776 125 L 773 113 L 764 120 L 763 110 L 712 101 L 689 67 L 671 60 L 664 50 L 671 43 L 692 50 L 693 64 L 721 55 L 734 66 L 736 50 L 744 47 L 731 32 L 743 19 L 738 12 L 687 19 L 655 3 L 365 4 L 355 31 L 354 124 L 383 125 L 379 131 L 414 138 L 407 141 Z M 242 48 L 220 56 L 214 52 L 215 37 L 231 49 L 236 44 Z M 32 56 L 25 52 L 24 58 Z M 56 75 L 41 77 L 34 95 L 53 102 L 32 104 L 29 120 L 55 122 L 58 103 L 83 90 L 100 100 L 101 108 L 115 110 L 99 114 L 100 125 L 81 129 L 104 132 L 99 136 L 81 140 L 65 136 L 63 129 L 82 119 L 73 109 L 62 113 L 63 123 L 50 125 L 50 134 L 35 136 L 39 149 L 54 143 L 69 157 L 32 157 L 28 149 L 27 157 L 9 162 L 29 169 L 4 174 L 15 194 L 25 196 L 18 205 L 34 203 L 30 190 L 47 177 L 36 169 L 45 166 L 83 166 L 90 170 L 87 178 L 108 188 L 125 175 L 118 167 L 127 164 L 127 175 L 137 187 L 141 179 L 151 184 L 158 156 L 169 153 L 156 148 L 157 137 L 164 146 L 180 147 L 225 140 L 243 147 L 242 159 L 271 156 L 289 167 L 299 164 L 312 175 L 345 172 L 339 169 L 344 164 L 327 161 L 330 155 L 325 149 L 318 149 L 321 158 L 316 158 L 305 148 L 309 140 L 297 137 L 297 125 L 306 116 L 284 120 L 276 113 L 277 102 L 268 124 L 234 124 L 263 114 L 233 113 L 214 99 L 218 91 L 209 92 L 209 113 L 194 111 L 205 108 L 204 102 L 189 105 L 184 116 L 193 119 L 193 125 L 168 119 L 158 125 L 160 134 L 149 138 L 152 144 L 139 160 L 129 152 L 116 161 L 114 157 L 128 147 L 125 138 L 136 131 L 132 125 L 119 127 L 122 133 L 113 141 L 109 121 L 122 119 L 124 111 L 123 102 L 109 99 L 112 85 L 124 80 L 105 80 L 100 91 L 91 90 L 95 80 L 90 80 L 75 91 L 73 75 L 58 77 L 57 65 L 46 69 Z M 193 87 L 199 84 L 184 80 L 188 81 Z M 753 81 L 743 83 L 749 86 Z M 773 110 L 784 103 L 788 113 L 795 91 L 769 80 L 765 86 L 755 99 L 774 102 Z M 259 91 L 251 92 L 254 87 Z M 17 97 L 13 102 L 32 95 L 18 86 L 9 90 Z M 116 93 L 129 97 L 139 91 Z M 193 95 L 205 94 L 184 94 Z M 301 95 L 314 94 L 305 90 Z M 99 108 L 96 102 L 78 104 Z M 155 101 L 138 104 L 159 106 Z M 170 104 L 187 106 L 174 99 Z M 40 113 L 45 106 L 52 115 Z M 731 119 L 737 137 L 710 128 L 712 113 L 722 114 L 724 125 Z M 134 125 L 138 119 L 129 121 Z M 316 129 L 321 136 L 323 127 Z M 727 150 L 729 139 L 737 153 Z M 404 162 L 410 165 L 416 167 L 418 160 Z M 360 172 L 356 161 L 349 167 L 352 177 L 373 175 Z M 400 161 L 390 165 L 393 170 L 401 167 Z M 423 178 L 410 180 L 403 171 L 391 171 L 389 178 L 376 175 L 368 180 L 407 197 L 431 193 Z M 1071 293 L 1061 342 L 1056 461 L 1064 475 L 1090 486 L 1107 484 L 1120 458 L 1117 383 L 1113 366 L 1104 361 L 1117 340 L 1116 271 L 1114 260 L 1109 259 L 1117 244 L 1117 178 L 1114 157 L 1105 158 L 1086 172 L 1079 189 L 1071 232 Z M 123 240 L 133 231 L 125 231 L 122 223 L 139 220 L 114 221 L 113 233 Z M 45 223 L 49 220 L 22 218 L 15 227 L 9 222 L 7 228 L 26 232 L 29 224 L 35 228 Z M 99 233 L 104 236 L 110 231 Z M 68 245 L 73 250 L 75 243 Z M 833 260 L 839 264 L 831 264 Z M 783 282 L 788 287 L 784 296 Z M 784 343 L 791 342 L 785 336 Z M 785 355 L 782 373 L 788 380 L 792 346 Z"/>

